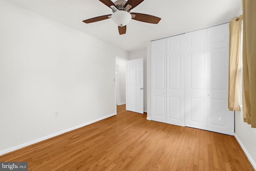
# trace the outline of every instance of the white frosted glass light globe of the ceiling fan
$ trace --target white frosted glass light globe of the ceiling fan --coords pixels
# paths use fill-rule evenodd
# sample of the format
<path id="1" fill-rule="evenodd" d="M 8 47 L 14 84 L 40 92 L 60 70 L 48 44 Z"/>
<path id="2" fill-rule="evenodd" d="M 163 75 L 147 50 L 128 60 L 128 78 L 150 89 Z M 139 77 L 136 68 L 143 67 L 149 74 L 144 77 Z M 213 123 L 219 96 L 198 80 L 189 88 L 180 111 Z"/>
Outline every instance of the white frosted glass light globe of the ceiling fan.
<path id="1" fill-rule="evenodd" d="M 116 11 L 111 16 L 112 20 L 116 25 L 122 27 L 126 26 L 128 22 L 132 19 L 132 15 L 129 12 L 126 11 Z"/>

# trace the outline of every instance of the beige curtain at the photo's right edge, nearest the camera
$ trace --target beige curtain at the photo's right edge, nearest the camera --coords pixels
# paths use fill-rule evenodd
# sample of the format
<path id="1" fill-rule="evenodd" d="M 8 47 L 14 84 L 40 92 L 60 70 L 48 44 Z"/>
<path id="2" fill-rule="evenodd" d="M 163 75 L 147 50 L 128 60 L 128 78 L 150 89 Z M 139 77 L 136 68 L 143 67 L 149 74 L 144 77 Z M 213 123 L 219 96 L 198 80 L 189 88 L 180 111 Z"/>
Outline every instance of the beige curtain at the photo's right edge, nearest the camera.
<path id="1" fill-rule="evenodd" d="M 243 113 L 244 121 L 256 128 L 256 0 L 243 6 Z"/>

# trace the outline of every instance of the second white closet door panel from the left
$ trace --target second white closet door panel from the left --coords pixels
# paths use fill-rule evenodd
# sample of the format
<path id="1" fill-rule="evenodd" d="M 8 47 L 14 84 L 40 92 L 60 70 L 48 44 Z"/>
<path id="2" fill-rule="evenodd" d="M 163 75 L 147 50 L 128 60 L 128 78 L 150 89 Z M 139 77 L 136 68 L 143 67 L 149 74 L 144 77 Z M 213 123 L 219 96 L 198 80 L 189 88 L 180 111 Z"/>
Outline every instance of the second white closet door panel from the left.
<path id="1" fill-rule="evenodd" d="M 184 34 L 167 38 L 166 123 L 185 126 Z"/>

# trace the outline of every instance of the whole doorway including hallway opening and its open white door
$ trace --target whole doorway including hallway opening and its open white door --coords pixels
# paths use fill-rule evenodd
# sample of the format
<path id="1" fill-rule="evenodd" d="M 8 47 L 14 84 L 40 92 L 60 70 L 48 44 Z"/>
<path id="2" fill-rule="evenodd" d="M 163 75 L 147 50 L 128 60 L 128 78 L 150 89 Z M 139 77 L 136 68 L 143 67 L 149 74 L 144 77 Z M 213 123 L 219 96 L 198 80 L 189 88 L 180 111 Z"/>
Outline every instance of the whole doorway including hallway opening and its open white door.
<path id="1" fill-rule="evenodd" d="M 118 105 L 126 110 L 144 113 L 143 58 L 127 60 L 116 57 L 116 111 Z"/>

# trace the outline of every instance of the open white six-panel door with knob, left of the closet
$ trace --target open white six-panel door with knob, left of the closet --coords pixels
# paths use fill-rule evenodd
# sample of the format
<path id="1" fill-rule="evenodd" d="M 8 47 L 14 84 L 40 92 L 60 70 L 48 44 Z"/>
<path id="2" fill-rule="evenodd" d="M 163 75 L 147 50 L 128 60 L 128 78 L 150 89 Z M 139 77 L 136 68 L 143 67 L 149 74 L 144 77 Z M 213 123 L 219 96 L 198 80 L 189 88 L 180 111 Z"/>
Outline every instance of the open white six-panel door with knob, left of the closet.
<path id="1" fill-rule="evenodd" d="M 126 110 L 144 113 L 143 58 L 127 62 Z"/>

